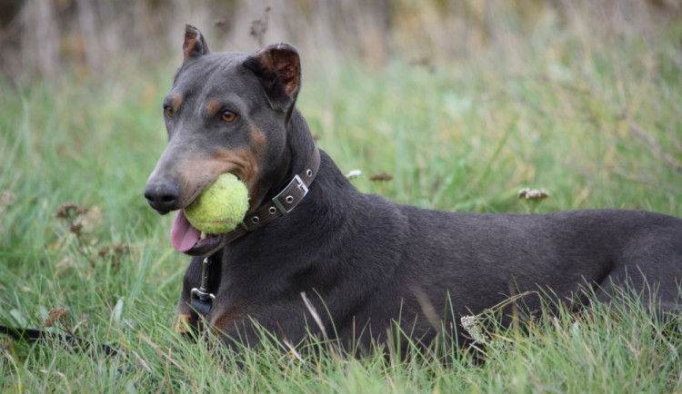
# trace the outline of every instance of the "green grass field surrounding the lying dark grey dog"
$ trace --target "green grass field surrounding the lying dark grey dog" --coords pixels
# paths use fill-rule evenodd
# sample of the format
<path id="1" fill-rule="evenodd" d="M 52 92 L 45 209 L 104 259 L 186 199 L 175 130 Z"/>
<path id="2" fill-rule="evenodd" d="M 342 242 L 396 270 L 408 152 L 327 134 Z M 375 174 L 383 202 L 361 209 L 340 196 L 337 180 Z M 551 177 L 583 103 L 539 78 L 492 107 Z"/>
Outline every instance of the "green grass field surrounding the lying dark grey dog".
<path id="1" fill-rule="evenodd" d="M 363 172 L 360 190 L 397 202 L 682 216 L 681 36 L 587 44 L 557 35 L 433 67 L 308 59 L 299 107 L 341 170 Z M 0 320 L 39 327 L 62 307 L 53 330 L 123 349 L 92 360 L 54 343 L 3 340 L 3 391 L 682 390 L 679 332 L 637 309 L 496 331 L 508 344 L 486 350 L 482 363 L 471 350 L 451 363 L 329 355 L 302 363 L 276 344 L 235 358 L 178 340 L 171 322 L 187 259 L 170 247 L 170 217 L 142 196 L 164 149 L 160 98 L 175 66 L 105 81 L 0 83 Z M 395 178 L 368 181 L 376 172 Z M 523 187 L 550 197 L 529 205 L 517 199 Z M 75 218 L 78 236 L 55 217 L 65 202 L 88 208 Z"/>

